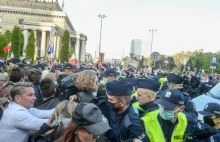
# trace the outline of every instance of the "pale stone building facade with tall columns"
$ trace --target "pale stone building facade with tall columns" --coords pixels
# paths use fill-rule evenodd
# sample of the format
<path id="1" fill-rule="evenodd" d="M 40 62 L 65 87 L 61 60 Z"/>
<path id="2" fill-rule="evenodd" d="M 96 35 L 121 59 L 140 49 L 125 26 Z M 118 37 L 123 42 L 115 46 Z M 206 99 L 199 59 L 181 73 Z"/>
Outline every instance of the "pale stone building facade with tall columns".
<path id="1" fill-rule="evenodd" d="M 68 30 L 70 51 L 74 50 L 80 63 L 85 61 L 87 36 L 75 31 L 68 15 L 61 10 L 57 0 L 0 0 L 1 32 L 12 31 L 14 26 L 20 27 L 24 34 L 23 51 L 27 46 L 30 31 L 34 31 L 36 57 L 58 58 L 64 31 Z M 51 44 L 54 52 L 48 55 Z"/>

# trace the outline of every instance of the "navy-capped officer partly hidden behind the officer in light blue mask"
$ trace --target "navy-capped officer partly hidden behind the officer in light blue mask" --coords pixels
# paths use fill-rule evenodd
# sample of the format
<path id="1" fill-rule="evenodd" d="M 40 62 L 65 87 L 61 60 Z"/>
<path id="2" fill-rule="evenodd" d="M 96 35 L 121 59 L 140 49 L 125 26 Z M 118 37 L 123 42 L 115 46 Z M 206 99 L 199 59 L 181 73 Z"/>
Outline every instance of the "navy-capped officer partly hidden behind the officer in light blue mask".
<path id="1" fill-rule="evenodd" d="M 183 89 L 183 77 L 174 73 L 171 73 L 167 76 L 167 86 L 168 88 L 176 88 L 181 91 L 184 95 L 184 112 L 188 113 L 193 118 L 198 118 L 198 113 L 195 110 L 195 105 L 192 102 L 191 97 Z"/>

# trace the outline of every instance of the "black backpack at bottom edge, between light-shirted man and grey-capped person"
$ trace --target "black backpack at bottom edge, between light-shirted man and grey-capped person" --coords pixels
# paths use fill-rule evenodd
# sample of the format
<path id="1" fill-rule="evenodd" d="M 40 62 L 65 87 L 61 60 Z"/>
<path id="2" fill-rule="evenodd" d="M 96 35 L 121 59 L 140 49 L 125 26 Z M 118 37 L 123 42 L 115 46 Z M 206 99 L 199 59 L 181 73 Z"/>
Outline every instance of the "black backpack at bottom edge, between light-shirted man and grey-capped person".
<path id="1" fill-rule="evenodd" d="M 52 142 L 62 136 L 63 130 L 62 122 L 52 127 L 44 123 L 40 130 L 32 136 L 31 142 Z"/>

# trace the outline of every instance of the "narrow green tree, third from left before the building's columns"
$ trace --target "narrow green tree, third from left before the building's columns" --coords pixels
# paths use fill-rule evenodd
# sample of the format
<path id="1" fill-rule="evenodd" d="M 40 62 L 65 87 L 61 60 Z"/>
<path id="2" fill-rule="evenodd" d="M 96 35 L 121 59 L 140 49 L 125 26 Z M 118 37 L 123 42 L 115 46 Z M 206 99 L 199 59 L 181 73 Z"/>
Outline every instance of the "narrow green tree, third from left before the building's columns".
<path id="1" fill-rule="evenodd" d="M 34 31 L 31 31 L 28 37 L 28 44 L 26 46 L 26 57 L 34 61 L 34 54 L 35 54 L 35 37 L 34 37 Z"/>

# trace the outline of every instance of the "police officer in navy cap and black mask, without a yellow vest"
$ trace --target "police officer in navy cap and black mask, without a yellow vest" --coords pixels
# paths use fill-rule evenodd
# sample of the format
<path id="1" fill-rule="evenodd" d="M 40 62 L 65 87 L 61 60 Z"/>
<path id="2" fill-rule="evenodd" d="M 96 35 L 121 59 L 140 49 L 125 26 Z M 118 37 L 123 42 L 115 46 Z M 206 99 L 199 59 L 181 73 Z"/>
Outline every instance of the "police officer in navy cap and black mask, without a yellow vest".
<path id="1" fill-rule="evenodd" d="M 97 103 L 112 128 L 106 133 L 106 137 L 112 142 L 135 138 L 143 142 L 148 141 L 137 114 L 129 106 L 132 89 L 132 85 L 125 81 L 108 82 L 106 84 L 108 101 L 101 100 Z"/>

